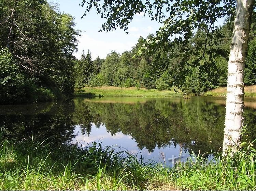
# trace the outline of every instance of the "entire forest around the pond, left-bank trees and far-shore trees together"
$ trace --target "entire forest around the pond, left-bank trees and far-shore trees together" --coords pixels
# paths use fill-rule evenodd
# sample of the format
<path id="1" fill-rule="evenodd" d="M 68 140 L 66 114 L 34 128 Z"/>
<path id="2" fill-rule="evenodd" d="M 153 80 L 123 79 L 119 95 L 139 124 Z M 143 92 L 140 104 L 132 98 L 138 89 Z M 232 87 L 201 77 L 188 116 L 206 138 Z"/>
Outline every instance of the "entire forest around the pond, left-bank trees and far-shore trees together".
<path id="1" fill-rule="evenodd" d="M 26 11 L 25 11 L 26 10 Z M 215 56 L 199 49 L 184 60 L 183 54 L 169 55 L 163 48 L 138 54 L 149 34 L 142 36 L 131 50 L 122 54 L 112 50 L 106 58 L 91 59 L 90 51 L 83 51 L 77 59 L 79 30 L 74 18 L 58 11 L 57 5 L 46 1 L 2 1 L 0 47 L 1 103 L 49 101 L 72 97 L 74 88 L 84 86 L 118 86 L 140 89 L 168 90 L 175 87 L 183 93 L 200 93 L 227 85 L 227 62 L 233 30 L 233 20 L 208 34 L 207 25 L 192 35 L 190 47 L 201 46 L 207 35 L 216 36 Z M 253 20 L 254 21 L 254 20 Z M 29 23 L 29 24 L 28 24 Z M 256 84 L 256 32 L 252 23 L 244 71 L 245 85 Z M 210 43 L 210 42 L 209 42 Z M 206 44 L 208 45 L 208 43 Z M 179 44 L 175 50 L 179 55 Z M 203 59 L 197 58 L 203 55 Z"/>

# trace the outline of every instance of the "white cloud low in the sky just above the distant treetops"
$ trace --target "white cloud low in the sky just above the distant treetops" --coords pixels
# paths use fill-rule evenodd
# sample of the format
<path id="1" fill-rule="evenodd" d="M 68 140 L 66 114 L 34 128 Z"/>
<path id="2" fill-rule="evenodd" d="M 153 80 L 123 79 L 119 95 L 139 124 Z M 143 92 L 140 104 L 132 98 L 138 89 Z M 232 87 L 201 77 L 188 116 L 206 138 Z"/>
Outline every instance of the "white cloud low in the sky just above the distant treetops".
<path id="1" fill-rule="evenodd" d="M 115 50 L 119 53 L 123 53 L 126 50 L 130 50 L 131 47 L 136 43 L 131 41 L 126 41 L 123 39 L 113 39 L 108 38 L 108 34 L 101 33 L 95 35 L 88 35 L 86 32 L 83 32 L 79 37 L 78 51 L 74 53 L 78 59 L 81 56 L 82 51 L 90 50 L 92 59 L 94 60 L 97 56 L 100 58 L 105 58 L 111 50 Z"/>

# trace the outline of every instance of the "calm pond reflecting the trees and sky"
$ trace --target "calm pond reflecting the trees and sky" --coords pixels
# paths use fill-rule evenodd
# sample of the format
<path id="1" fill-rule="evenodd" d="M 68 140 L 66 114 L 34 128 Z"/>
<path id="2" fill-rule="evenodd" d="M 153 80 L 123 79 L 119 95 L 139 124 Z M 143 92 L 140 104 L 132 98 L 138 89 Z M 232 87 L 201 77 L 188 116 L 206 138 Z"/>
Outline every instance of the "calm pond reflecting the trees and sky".
<path id="1" fill-rule="evenodd" d="M 102 141 L 121 150 L 172 166 L 221 151 L 225 98 L 75 98 L 66 102 L 0 106 L 0 127 L 7 138 L 54 138 L 54 143 L 78 146 Z M 256 139 L 256 99 L 245 98 L 244 124 Z M 205 154 L 211 158 L 214 154 Z"/>

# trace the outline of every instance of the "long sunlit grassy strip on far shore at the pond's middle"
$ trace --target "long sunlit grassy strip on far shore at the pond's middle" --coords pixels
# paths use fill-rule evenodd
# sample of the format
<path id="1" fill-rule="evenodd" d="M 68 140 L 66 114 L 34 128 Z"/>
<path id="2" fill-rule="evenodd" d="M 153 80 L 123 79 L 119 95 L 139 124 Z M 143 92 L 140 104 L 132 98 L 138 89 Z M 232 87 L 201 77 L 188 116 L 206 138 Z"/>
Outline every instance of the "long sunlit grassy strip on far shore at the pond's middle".
<path id="1" fill-rule="evenodd" d="M 118 96 L 118 97 L 182 97 L 181 93 L 176 93 L 174 88 L 169 90 L 159 91 L 156 89 L 145 89 L 136 87 L 120 88 L 114 86 L 103 87 L 84 87 L 83 89 L 75 90 L 76 96 L 84 97 L 101 97 L 101 96 Z"/>

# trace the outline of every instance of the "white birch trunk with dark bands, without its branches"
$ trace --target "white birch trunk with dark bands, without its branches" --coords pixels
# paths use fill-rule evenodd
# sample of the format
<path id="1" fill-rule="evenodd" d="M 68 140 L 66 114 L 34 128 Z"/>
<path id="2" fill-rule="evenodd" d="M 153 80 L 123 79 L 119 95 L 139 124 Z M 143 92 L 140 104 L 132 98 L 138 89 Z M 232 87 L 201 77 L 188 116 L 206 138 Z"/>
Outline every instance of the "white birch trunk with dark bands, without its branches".
<path id="1" fill-rule="evenodd" d="M 254 0 L 237 0 L 233 38 L 228 60 L 228 83 L 223 156 L 238 150 L 243 125 L 244 64 Z"/>

